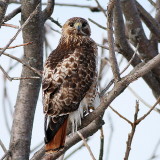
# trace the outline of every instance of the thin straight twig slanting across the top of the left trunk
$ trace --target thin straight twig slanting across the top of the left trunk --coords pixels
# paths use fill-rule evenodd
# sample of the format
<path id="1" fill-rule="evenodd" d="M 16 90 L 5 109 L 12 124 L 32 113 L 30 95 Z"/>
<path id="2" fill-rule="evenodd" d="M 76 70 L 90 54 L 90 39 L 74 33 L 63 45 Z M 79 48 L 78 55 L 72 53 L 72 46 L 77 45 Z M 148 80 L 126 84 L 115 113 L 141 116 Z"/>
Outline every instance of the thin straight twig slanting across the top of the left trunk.
<path id="1" fill-rule="evenodd" d="M 22 31 L 22 29 L 30 22 L 30 20 L 32 19 L 32 17 L 37 14 L 38 12 L 38 7 L 40 6 L 40 4 L 37 5 L 36 9 L 30 14 L 30 16 L 27 18 L 27 20 L 23 23 L 23 25 L 21 26 L 21 28 L 18 29 L 18 31 L 16 32 L 16 34 L 13 36 L 13 38 L 8 42 L 8 44 L 3 48 L 3 50 L 0 52 L 0 56 L 4 53 L 4 51 L 10 46 L 10 44 L 16 39 L 16 37 L 18 36 L 18 34 Z"/>

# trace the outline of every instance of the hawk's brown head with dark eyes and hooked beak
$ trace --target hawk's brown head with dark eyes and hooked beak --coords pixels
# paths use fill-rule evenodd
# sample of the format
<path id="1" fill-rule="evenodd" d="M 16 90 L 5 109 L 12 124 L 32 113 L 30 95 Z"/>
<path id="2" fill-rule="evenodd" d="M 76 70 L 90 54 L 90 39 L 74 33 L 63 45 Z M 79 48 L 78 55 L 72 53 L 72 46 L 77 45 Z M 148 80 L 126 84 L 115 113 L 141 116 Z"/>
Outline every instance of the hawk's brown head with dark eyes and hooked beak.
<path id="1" fill-rule="evenodd" d="M 91 30 L 88 22 L 80 17 L 70 18 L 62 27 L 64 36 L 90 36 Z"/>

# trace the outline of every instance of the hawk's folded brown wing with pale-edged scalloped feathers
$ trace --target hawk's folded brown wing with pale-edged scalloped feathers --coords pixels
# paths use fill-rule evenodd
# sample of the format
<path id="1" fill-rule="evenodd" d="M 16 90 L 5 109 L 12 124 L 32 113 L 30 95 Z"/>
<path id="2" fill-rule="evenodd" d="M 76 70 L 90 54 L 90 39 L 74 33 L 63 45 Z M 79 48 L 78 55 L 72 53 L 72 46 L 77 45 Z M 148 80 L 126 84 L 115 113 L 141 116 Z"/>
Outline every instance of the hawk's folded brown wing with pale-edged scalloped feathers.
<path id="1" fill-rule="evenodd" d="M 53 117 L 78 108 L 93 83 L 96 69 L 93 50 L 90 53 L 82 48 L 75 49 L 59 62 L 57 54 L 61 55 L 53 52 L 48 58 L 42 83 L 44 112 Z"/>

